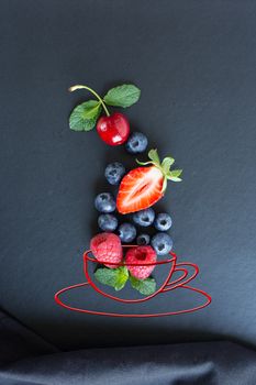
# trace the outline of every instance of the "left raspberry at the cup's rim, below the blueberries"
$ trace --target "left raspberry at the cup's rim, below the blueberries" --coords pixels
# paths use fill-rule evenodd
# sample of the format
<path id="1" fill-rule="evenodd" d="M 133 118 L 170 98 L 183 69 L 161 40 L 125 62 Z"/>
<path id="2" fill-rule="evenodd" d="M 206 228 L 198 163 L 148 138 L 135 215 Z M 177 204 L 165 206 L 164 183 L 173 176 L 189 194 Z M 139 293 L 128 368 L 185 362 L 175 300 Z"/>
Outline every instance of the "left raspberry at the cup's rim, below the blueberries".
<path id="1" fill-rule="evenodd" d="M 101 232 L 91 239 L 90 249 L 94 257 L 100 262 L 114 263 L 104 265 L 110 268 L 119 267 L 123 257 L 120 238 L 112 233 Z M 116 263 L 116 264 L 115 264 Z"/>

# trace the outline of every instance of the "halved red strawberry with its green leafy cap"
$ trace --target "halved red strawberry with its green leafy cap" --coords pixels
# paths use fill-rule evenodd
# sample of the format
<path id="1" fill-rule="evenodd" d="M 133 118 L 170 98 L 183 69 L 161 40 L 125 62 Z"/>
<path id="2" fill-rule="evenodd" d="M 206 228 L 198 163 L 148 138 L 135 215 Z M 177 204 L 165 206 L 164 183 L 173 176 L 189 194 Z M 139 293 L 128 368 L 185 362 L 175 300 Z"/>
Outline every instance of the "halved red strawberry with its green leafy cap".
<path id="1" fill-rule="evenodd" d="M 127 173 L 120 185 L 116 208 L 121 213 L 144 210 L 157 202 L 165 194 L 167 179 L 179 182 L 181 169 L 170 172 L 170 166 L 175 160 L 165 157 L 160 163 L 157 151 L 151 150 L 148 153 L 151 164 L 148 167 L 138 167 Z"/>

